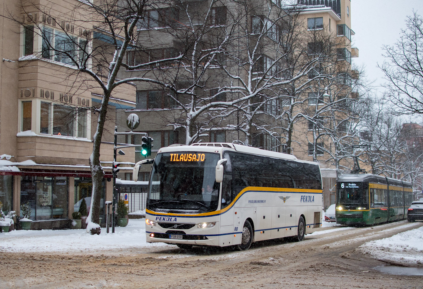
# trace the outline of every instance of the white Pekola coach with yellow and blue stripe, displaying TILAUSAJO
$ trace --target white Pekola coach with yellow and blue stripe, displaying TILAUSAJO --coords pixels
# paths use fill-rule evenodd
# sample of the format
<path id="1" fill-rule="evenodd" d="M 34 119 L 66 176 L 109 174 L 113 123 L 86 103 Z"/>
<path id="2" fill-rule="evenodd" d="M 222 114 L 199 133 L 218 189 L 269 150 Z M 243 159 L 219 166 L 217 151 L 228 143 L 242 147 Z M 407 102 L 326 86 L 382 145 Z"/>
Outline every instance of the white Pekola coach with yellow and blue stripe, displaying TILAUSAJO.
<path id="1" fill-rule="evenodd" d="M 134 167 L 137 181 L 140 164 Z M 151 170 L 146 241 L 184 249 L 291 237 L 321 226 L 319 165 L 230 143 L 163 147 Z"/>

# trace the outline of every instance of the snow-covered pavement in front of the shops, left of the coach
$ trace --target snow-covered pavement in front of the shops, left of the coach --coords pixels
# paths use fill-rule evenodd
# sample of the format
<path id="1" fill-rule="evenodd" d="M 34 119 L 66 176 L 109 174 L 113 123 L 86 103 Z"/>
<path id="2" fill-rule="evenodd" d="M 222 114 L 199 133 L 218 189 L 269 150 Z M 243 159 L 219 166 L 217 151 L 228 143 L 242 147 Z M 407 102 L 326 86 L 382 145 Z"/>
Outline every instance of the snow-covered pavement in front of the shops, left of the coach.
<path id="1" fill-rule="evenodd" d="M 19 230 L 0 233 L 0 252 L 95 252 L 98 250 L 127 249 L 131 247 L 175 246 L 165 243 L 146 243 L 146 219 L 129 219 L 126 227 L 102 228 L 100 235 L 79 230 Z"/>

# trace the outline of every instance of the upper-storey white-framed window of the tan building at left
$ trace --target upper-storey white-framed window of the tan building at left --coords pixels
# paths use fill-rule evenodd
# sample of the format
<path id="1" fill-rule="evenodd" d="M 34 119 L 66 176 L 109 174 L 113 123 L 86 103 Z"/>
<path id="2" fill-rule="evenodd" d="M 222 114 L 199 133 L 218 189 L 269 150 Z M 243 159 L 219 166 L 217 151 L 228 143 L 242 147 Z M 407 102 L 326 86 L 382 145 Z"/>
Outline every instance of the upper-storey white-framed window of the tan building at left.
<path id="1" fill-rule="evenodd" d="M 41 32 L 42 58 L 76 66 L 74 61 L 84 61 L 88 55 L 88 41 L 68 33 L 44 26 Z"/>

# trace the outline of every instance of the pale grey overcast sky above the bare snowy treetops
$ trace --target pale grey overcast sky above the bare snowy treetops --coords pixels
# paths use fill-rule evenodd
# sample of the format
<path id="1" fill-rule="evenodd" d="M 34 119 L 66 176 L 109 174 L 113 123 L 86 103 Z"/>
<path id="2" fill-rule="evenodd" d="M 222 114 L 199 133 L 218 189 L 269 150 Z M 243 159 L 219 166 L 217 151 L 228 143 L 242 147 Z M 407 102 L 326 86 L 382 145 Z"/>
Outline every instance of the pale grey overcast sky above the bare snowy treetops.
<path id="1" fill-rule="evenodd" d="M 394 44 L 405 28 L 407 15 L 415 9 L 423 15 L 423 0 L 351 0 L 352 46 L 359 49 L 355 64 L 365 64 L 368 79 L 375 80 L 375 89 L 385 82 L 383 72 L 377 67 L 382 64 L 382 45 Z"/>

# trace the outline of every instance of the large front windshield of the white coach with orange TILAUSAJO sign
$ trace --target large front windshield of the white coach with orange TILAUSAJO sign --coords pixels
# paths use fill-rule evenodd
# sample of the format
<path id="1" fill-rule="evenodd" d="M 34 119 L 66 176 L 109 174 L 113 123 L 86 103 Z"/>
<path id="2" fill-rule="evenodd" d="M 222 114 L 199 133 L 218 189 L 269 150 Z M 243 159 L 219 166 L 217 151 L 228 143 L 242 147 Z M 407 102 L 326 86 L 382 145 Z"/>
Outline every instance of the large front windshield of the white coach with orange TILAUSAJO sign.
<path id="1" fill-rule="evenodd" d="M 220 183 L 217 153 L 157 154 L 151 170 L 146 207 L 152 211 L 198 214 L 216 211 Z"/>

